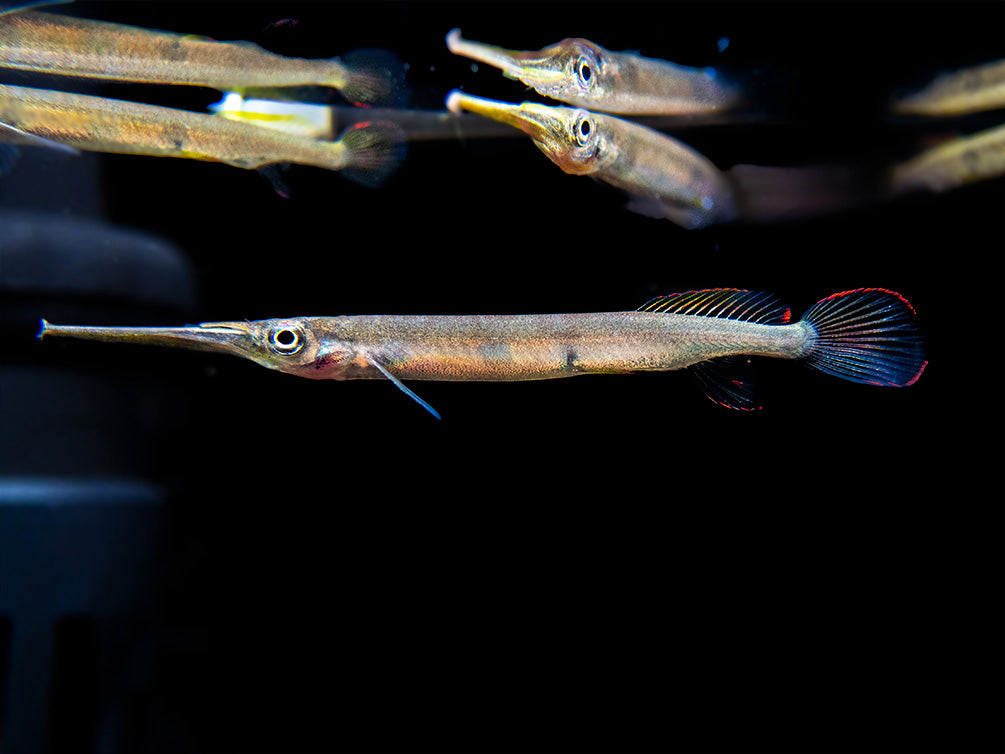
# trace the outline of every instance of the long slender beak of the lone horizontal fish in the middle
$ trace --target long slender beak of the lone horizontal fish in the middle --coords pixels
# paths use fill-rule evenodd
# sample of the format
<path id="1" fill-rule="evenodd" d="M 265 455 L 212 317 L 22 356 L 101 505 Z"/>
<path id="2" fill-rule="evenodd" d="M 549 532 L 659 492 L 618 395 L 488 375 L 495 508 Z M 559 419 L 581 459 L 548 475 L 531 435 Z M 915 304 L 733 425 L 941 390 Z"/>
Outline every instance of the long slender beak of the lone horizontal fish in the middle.
<path id="1" fill-rule="evenodd" d="M 254 331 L 246 322 L 207 322 L 178 328 L 90 327 L 52 325 L 42 320 L 38 337 L 57 336 L 93 341 L 171 346 L 249 357 L 254 353 Z"/>

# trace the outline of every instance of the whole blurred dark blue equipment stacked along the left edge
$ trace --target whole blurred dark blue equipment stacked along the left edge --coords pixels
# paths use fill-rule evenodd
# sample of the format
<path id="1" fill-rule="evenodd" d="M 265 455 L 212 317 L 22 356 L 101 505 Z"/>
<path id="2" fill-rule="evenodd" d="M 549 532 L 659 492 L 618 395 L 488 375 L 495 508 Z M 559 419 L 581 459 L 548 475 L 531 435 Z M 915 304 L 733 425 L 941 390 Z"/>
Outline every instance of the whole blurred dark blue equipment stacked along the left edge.
<path id="1" fill-rule="evenodd" d="M 44 212 L 0 223 L 0 748 L 130 751 L 166 498 L 151 441 L 174 396 L 57 350 L 42 360 L 33 334 L 42 316 L 182 316 L 193 277 L 146 233 Z"/>

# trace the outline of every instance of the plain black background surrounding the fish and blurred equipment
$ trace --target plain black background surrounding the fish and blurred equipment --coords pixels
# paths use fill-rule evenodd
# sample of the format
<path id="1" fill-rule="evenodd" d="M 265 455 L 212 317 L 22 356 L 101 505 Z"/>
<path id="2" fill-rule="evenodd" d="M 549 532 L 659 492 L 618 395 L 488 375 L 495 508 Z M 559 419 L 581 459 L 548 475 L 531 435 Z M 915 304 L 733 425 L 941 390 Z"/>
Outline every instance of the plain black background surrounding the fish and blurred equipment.
<path id="1" fill-rule="evenodd" d="M 718 64 L 754 76 L 798 121 L 674 132 L 722 167 L 907 156 L 926 134 L 963 127 L 881 122 L 885 98 L 1005 52 L 999 3 L 66 12 L 290 55 L 384 46 L 409 65 L 413 107 L 429 109 L 457 86 L 538 99 L 449 55 L 455 26 L 512 48 L 583 36 Z M 280 19 L 295 23 L 268 28 Z M 216 99 L 103 93 L 193 109 Z M 903 390 L 767 364 L 756 414 L 714 405 L 685 374 L 415 385 L 437 422 L 379 381 L 53 344 L 176 390 L 170 419 L 138 438 L 172 498 L 137 740 L 1001 750 L 1000 179 L 688 232 L 626 212 L 616 191 L 561 173 L 520 138 L 411 145 L 378 190 L 294 166 L 289 199 L 224 165 L 94 159 L 106 217 L 162 234 L 195 265 L 198 321 L 613 311 L 713 287 L 769 290 L 798 315 L 837 291 L 883 287 L 915 305 L 931 359 Z"/>

